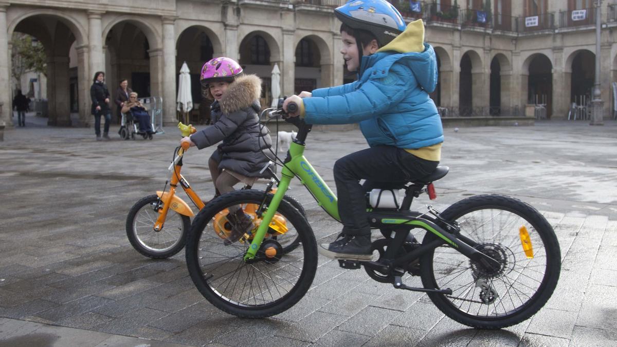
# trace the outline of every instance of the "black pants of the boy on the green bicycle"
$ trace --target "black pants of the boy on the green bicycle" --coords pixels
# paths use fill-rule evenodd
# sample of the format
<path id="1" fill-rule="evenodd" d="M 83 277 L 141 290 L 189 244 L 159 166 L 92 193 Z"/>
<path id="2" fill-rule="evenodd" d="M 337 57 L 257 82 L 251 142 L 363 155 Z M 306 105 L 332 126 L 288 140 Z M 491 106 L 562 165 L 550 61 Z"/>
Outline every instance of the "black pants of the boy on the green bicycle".
<path id="1" fill-rule="evenodd" d="M 347 235 L 370 235 L 366 192 L 392 188 L 433 173 L 437 161 L 414 156 L 394 146 L 376 146 L 342 157 L 334 163 L 339 215 Z M 360 180 L 366 180 L 360 185 Z"/>

